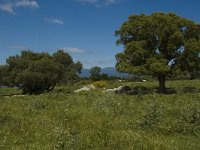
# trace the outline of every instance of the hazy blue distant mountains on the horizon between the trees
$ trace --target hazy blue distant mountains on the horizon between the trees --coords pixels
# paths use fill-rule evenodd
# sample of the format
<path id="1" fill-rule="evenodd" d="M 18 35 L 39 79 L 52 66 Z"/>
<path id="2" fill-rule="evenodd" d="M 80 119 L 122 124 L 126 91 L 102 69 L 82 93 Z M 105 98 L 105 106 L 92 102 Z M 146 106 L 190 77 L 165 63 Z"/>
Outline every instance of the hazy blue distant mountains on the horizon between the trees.
<path id="1" fill-rule="evenodd" d="M 116 76 L 116 77 L 129 77 L 129 74 L 126 73 L 119 73 L 115 67 L 106 67 L 101 69 L 101 73 L 108 74 L 109 76 Z M 82 69 L 80 77 L 89 77 L 90 70 L 89 69 Z"/>

